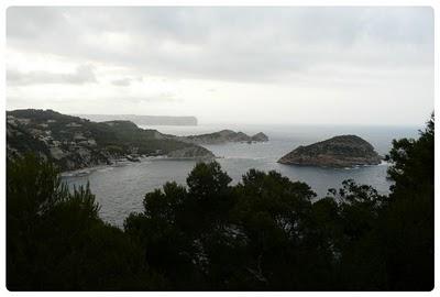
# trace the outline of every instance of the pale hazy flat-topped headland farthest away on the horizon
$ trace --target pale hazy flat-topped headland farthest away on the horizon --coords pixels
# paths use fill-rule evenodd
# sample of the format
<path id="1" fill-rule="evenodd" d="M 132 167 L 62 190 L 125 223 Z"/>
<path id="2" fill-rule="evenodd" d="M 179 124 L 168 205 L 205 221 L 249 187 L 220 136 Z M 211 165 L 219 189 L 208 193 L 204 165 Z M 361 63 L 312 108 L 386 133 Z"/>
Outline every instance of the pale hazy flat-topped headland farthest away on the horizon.
<path id="1" fill-rule="evenodd" d="M 131 121 L 138 125 L 197 125 L 196 117 L 136 116 L 136 114 L 75 114 L 94 122 Z"/>

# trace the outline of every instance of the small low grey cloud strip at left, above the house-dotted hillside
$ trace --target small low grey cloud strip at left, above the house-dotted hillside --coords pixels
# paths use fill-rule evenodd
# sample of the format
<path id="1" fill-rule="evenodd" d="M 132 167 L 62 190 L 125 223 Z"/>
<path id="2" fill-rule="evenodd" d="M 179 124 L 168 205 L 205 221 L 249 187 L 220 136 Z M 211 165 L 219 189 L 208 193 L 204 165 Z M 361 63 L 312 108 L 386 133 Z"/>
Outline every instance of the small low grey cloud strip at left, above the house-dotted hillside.
<path id="1" fill-rule="evenodd" d="M 74 84 L 82 85 L 87 82 L 97 82 L 94 67 L 81 65 L 74 73 L 48 73 L 48 72 L 29 72 L 22 73 L 16 69 L 8 69 L 7 81 L 9 85 L 36 85 L 36 84 Z"/>

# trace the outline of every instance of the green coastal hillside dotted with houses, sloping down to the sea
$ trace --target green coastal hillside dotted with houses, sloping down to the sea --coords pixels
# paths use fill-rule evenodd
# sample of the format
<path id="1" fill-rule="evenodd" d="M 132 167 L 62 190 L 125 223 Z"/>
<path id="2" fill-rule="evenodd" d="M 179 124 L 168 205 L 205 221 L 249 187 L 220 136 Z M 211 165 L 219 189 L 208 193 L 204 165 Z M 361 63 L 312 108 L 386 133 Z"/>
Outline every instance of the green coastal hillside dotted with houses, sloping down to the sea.
<path id="1" fill-rule="evenodd" d="M 51 160 L 62 170 L 112 164 L 141 156 L 212 158 L 213 154 L 156 130 L 138 128 L 130 121 L 91 122 L 52 110 L 7 112 L 8 157 L 33 152 Z"/>

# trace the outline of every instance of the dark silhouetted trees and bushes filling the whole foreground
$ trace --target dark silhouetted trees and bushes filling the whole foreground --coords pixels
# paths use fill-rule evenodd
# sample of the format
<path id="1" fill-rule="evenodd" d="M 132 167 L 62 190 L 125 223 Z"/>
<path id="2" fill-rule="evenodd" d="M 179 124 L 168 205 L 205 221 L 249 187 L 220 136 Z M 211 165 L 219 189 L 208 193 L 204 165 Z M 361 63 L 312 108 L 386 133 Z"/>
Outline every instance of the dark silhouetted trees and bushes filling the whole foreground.
<path id="1" fill-rule="evenodd" d="M 430 290 L 433 118 L 393 142 L 388 196 L 343 183 L 312 204 L 308 185 L 251 169 L 237 186 L 218 163 L 187 186 L 145 195 L 124 230 L 87 188 L 69 193 L 35 156 L 7 172 L 11 290 Z"/>

